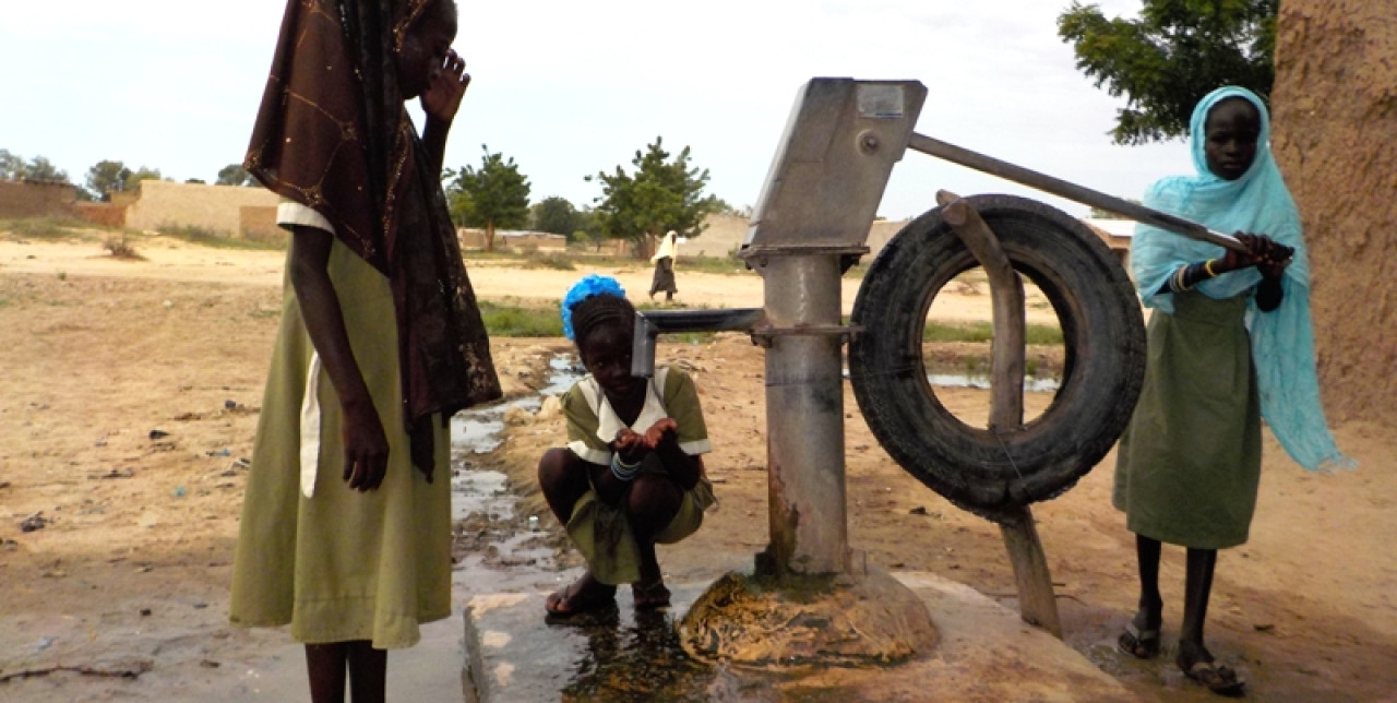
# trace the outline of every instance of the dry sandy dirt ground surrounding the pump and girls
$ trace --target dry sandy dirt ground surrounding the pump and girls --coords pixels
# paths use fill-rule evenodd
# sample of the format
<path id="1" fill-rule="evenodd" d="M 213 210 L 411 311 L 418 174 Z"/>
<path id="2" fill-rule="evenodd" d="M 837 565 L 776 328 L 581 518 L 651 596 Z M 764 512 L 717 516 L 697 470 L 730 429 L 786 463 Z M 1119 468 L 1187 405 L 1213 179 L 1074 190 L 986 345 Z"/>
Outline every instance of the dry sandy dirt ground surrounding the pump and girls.
<path id="1" fill-rule="evenodd" d="M 226 625 L 282 254 L 161 239 L 137 249 L 145 260 L 115 260 L 94 239 L 0 233 L 0 699 L 45 690 L 45 700 L 183 700 L 172 678 L 232 686 L 237 662 L 286 642 Z M 486 299 L 556 300 L 583 273 L 469 267 Z M 648 285 L 644 266 L 606 273 L 633 292 Z M 856 287 L 847 282 L 847 306 Z M 679 289 L 690 306 L 761 305 L 753 274 L 680 268 Z M 963 287 L 943 293 L 933 314 L 986 310 L 988 295 Z M 1030 319 L 1044 314 L 1035 306 Z M 531 393 L 549 356 L 569 351 L 566 340 L 493 347 L 511 393 Z M 671 580 L 711 580 L 767 544 L 763 355 L 745 335 L 721 334 L 661 344 L 658 358 L 696 376 L 721 500 L 661 562 Z M 968 421 L 988 411 L 982 391 L 939 396 Z M 1030 411 L 1048 400 L 1031 394 Z M 851 546 L 870 565 L 935 572 L 1014 608 L 997 527 L 895 465 L 851 391 L 845 412 Z M 562 421 L 513 419 L 493 460 L 529 495 L 531 464 L 559 443 Z M 1336 433 L 1358 471 L 1306 474 L 1267 435 L 1252 539 L 1220 558 L 1208 642 L 1257 700 L 1397 700 L 1397 439 L 1362 422 Z M 1143 664 L 1113 650 L 1137 591 L 1133 538 L 1109 505 L 1112 463 L 1113 454 L 1034 507 L 1066 640 L 1143 700 L 1207 700 L 1169 664 L 1172 647 Z M 1165 552 L 1165 642 L 1178 636 L 1182 556 Z M 36 689 L 25 674 L 49 683 Z"/>

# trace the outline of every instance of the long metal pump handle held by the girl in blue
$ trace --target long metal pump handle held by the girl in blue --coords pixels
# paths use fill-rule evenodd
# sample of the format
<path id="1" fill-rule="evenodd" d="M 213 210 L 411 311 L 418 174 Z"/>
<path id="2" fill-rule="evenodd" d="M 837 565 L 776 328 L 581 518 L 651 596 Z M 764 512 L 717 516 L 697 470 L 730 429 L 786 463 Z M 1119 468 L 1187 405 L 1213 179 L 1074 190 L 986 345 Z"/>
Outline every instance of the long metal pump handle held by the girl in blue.
<path id="1" fill-rule="evenodd" d="M 1158 226 L 1161 229 L 1168 229 L 1183 235 L 1190 239 L 1197 239 L 1201 242 L 1211 242 L 1214 245 L 1232 249 L 1234 252 L 1246 253 L 1246 245 L 1239 242 L 1235 236 L 1218 232 L 1215 229 L 1208 229 L 1197 222 L 1185 219 L 1182 217 L 1171 215 L 1168 212 L 1161 212 L 1154 208 L 1148 208 L 1129 200 L 1122 200 L 1115 196 L 1108 196 L 1099 190 L 1091 190 L 1090 187 L 1078 186 L 1067 180 L 1062 180 L 1046 173 L 1039 173 L 1037 171 L 1025 169 L 1023 166 L 1010 164 L 1007 161 L 999 161 L 993 157 L 986 157 L 983 154 L 970 151 L 967 148 L 957 147 L 954 144 L 947 144 L 940 140 L 935 140 L 925 134 L 912 133 L 908 140 L 908 148 L 921 151 L 922 154 L 929 154 L 932 157 L 950 161 L 951 164 L 960 164 L 965 168 L 972 168 L 989 173 L 992 176 L 999 176 L 1003 179 L 1013 180 L 1014 183 L 1021 183 L 1028 187 L 1035 187 L 1055 196 L 1065 197 L 1067 200 L 1074 200 L 1077 203 L 1097 207 L 1115 212 L 1118 215 L 1125 215 L 1137 222 L 1144 222 L 1148 225 Z"/>

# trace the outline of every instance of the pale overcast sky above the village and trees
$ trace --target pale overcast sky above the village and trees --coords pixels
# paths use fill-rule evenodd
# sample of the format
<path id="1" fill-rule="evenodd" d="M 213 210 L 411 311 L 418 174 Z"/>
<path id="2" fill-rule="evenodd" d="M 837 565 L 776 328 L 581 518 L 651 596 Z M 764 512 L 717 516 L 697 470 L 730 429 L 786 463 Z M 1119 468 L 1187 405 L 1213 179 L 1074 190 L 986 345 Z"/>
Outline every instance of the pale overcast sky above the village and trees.
<path id="1" fill-rule="evenodd" d="M 1058 38 L 1070 0 L 457 0 L 471 87 L 446 165 L 482 145 L 515 161 L 531 198 L 592 207 L 657 137 L 690 147 L 705 193 L 756 205 L 799 88 L 813 77 L 918 80 L 916 131 L 1112 196 L 1192 172 L 1182 141 L 1119 147 L 1123 98 Z M 1137 17 L 1140 0 L 1095 0 Z M 0 150 L 82 184 L 99 161 L 214 182 L 247 147 L 285 0 L 7 0 Z M 412 113 L 420 127 L 420 110 Z M 879 215 L 916 217 L 946 189 L 1062 200 L 908 151 Z"/>

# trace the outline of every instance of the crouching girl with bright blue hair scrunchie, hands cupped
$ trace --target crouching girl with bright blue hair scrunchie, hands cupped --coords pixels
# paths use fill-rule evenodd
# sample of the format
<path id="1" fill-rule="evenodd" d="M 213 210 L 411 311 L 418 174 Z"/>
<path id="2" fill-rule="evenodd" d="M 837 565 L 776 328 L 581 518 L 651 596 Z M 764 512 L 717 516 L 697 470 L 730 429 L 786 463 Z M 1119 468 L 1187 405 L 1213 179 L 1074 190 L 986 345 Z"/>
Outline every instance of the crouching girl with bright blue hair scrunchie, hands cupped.
<path id="1" fill-rule="evenodd" d="M 563 299 L 563 331 L 588 376 L 563 396 L 567 446 L 543 454 L 538 481 L 587 572 L 548 597 L 553 618 L 612 607 L 620 583 L 636 608 L 668 607 L 655 545 L 693 534 L 714 505 L 698 393 L 680 369 L 631 376 L 634 324 L 613 278 L 590 275 Z"/>

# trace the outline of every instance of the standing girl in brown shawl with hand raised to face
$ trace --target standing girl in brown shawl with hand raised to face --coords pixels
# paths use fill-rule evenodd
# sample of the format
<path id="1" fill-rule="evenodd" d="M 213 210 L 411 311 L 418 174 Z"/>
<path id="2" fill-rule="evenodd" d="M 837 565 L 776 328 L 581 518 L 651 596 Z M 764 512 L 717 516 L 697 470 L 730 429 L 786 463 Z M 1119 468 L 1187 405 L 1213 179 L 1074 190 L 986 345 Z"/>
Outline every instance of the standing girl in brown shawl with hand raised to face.
<path id="1" fill-rule="evenodd" d="M 440 186 L 455 31 L 453 0 L 291 0 L 244 161 L 292 238 L 231 621 L 289 623 L 316 702 L 383 700 L 450 614 L 447 418 L 500 396 Z"/>

